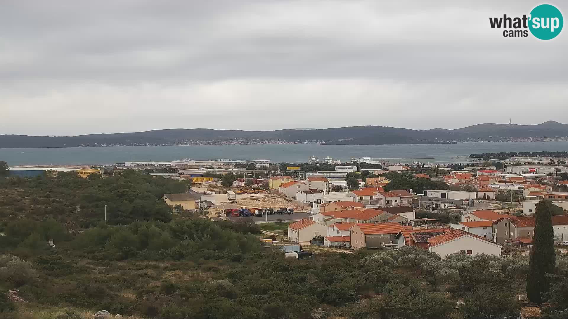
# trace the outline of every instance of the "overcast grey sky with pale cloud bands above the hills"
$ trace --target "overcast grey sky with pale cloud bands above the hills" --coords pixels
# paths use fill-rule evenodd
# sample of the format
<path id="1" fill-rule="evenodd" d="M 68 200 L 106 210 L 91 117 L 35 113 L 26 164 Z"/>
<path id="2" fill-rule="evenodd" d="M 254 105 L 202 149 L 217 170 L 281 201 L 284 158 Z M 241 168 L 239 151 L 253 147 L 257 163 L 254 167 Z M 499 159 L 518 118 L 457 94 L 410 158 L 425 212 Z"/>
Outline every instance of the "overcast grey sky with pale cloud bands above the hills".
<path id="1" fill-rule="evenodd" d="M 540 3 L 4 0 L 0 134 L 568 123 L 568 30 L 489 26 Z"/>

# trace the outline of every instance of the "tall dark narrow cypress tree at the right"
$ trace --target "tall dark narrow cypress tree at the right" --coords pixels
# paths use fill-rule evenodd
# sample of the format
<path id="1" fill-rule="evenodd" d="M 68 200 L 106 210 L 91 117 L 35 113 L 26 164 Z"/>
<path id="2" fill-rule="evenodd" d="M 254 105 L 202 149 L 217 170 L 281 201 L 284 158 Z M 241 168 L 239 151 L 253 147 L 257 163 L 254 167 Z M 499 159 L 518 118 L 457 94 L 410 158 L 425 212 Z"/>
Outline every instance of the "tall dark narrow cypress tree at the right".
<path id="1" fill-rule="evenodd" d="M 549 280 L 546 274 L 554 272 L 554 229 L 552 227 L 552 202 L 541 200 L 534 214 L 533 247 L 527 275 L 527 297 L 533 303 L 542 303 L 542 293 L 548 292 Z"/>

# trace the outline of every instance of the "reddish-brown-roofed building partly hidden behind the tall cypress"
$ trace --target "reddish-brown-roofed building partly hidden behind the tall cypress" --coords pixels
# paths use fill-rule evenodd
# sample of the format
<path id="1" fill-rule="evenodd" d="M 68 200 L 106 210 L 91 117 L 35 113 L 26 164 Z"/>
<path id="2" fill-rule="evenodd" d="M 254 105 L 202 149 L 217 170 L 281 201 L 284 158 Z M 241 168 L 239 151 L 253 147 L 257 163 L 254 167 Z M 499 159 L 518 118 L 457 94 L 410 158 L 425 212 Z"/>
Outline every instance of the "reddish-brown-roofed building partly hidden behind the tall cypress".
<path id="1" fill-rule="evenodd" d="M 568 241 L 568 216 L 552 216 L 554 241 Z M 493 223 L 493 240 L 503 244 L 508 240 L 532 238 L 534 236 L 534 216 L 508 216 Z"/>

